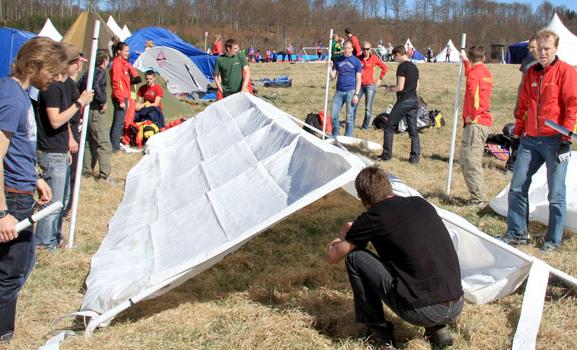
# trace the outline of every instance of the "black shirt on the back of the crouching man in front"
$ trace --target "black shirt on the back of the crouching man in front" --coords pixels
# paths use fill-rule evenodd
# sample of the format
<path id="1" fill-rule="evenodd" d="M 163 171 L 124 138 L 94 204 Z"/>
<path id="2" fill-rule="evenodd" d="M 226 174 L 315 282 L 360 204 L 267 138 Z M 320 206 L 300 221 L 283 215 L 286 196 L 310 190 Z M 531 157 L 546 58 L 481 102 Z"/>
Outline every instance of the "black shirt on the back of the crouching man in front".
<path id="1" fill-rule="evenodd" d="M 414 307 L 463 295 L 461 270 L 449 232 L 435 208 L 421 197 L 387 198 L 361 214 L 345 239 L 369 242 L 396 279 L 396 293 Z"/>

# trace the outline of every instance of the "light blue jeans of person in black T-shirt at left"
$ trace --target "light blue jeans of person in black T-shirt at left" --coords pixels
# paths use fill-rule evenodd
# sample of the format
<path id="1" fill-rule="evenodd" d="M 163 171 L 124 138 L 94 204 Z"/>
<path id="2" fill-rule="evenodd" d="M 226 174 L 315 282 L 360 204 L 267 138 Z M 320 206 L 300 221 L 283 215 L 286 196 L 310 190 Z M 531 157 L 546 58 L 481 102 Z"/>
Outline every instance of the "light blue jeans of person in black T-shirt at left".
<path id="1" fill-rule="evenodd" d="M 38 151 L 38 165 L 44 180 L 52 189 L 52 200 L 46 206 L 60 201 L 66 208 L 70 191 L 68 155 Z M 36 224 L 36 241 L 39 246 L 52 250 L 62 241 L 63 215 L 64 210 L 57 210 Z"/>

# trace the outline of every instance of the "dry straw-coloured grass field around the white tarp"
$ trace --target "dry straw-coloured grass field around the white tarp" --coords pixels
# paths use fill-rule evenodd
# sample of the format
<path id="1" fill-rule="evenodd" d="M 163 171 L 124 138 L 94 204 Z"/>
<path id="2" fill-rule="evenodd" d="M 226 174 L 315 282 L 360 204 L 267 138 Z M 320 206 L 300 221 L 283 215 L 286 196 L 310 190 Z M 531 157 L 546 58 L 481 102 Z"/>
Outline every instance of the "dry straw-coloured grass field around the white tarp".
<path id="1" fill-rule="evenodd" d="M 387 84 L 394 83 L 396 66 L 389 65 Z M 490 234 L 502 234 L 506 224 L 489 208 L 464 205 L 468 193 L 455 164 L 452 196 L 443 193 L 453 115 L 456 65 L 423 64 L 420 94 L 429 109 L 443 112 L 448 125 L 421 134 L 421 162 L 410 165 L 409 139 L 395 136 L 394 158 L 387 170 L 417 189 L 427 199 L 454 211 Z M 494 132 L 512 121 L 520 73 L 516 66 L 489 65 L 494 75 Z M 304 119 L 323 109 L 325 70 L 322 64 L 253 65 L 255 79 L 289 75 L 292 88 L 259 89 L 259 95 L 277 107 Z M 331 93 L 332 95 L 332 93 Z M 394 95 L 377 92 L 374 111 L 394 103 Z M 203 105 L 193 106 L 198 112 Z M 376 114 L 375 113 L 375 114 Z M 362 122 L 359 110 L 357 125 Z M 355 136 L 382 142 L 378 130 L 355 130 Z M 460 128 L 458 132 L 460 140 Z M 458 146 L 457 146 L 458 154 Z M 90 258 L 98 249 L 107 224 L 123 196 L 124 178 L 139 154 L 113 157 L 115 186 L 83 180 L 76 247 L 55 254 L 40 252 L 28 283 L 20 294 L 16 336 L 7 349 L 38 348 L 59 328 L 70 327 L 58 317 L 76 311 L 83 299 L 83 284 Z M 504 162 L 485 157 L 489 197 L 503 189 L 509 178 Z M 81 335 L 63 343 L 63 349 L 367 349 L 364 329 L 355 323 L 352 293 L 343 264 L 328 265 L 326 245 L 344 220 L 362 212 L 361 205 L 344 191 L 325 196 L 290 216 L 208 271 L 154 300 L 135 305 L 108 328 L 90 338 Z M 531 225 L 542 237 L 545 227 Z M 538 245 L 523 248 L 540 256 Z M 566 234 L 561 249 L 543 256 L 551 265 L 577 275 L 577 239 Z M 521 292 L 488 305 L 466 304 L 452 329 L 455 349 L 507 349 L 516 329 L 523 300 Z M 572 290 L 551 283 L 538 336 L 539 349 L 577 348 L 577 300 Z M 396 338 L 403 349 L 429 349 L 423 329 L 400 321 L 390 312 Z M 0 346 L 1 348 L 1 346 Z"/>

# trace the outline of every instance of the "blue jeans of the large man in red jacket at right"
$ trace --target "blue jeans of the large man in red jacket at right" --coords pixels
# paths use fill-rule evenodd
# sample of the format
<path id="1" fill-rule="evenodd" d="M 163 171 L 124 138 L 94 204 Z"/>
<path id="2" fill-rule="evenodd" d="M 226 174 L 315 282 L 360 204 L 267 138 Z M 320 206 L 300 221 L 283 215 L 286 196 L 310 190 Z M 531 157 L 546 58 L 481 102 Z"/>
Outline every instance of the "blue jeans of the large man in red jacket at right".
<path id="1" fill-rule="evenodd" d="M 545 243 L 558 247 L 563 238 L 565 222 L 565 175 L 568 161 L 557 163 L 557 151 L 561 135 L 523 136 L 517 150 L 517 160 L 509 188 L 509 211 L 507 213 L 507 236 L 527 237 L 529 221 L 529 186 L 533 174 L 545 163 L 549 194 L 549 226 Z"/>

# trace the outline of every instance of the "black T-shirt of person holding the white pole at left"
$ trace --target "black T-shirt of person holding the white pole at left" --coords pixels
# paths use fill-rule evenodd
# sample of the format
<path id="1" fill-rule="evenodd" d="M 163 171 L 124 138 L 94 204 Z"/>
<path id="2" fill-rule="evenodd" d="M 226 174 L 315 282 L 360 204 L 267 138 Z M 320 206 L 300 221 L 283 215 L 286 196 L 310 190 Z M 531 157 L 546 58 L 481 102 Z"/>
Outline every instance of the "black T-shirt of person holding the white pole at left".
<path id="1" fill-rule="evenodd" d="M 48 153 L 68 152 L 68 122 L 54 129 L 48 121 L 46 108 L 68 109 L 74 102 L 65 93 L 64 82 L 55 81 L 46 91 L 40 91 L 36 125 L 38 128 L 38 150 Z"/>

